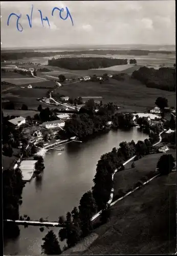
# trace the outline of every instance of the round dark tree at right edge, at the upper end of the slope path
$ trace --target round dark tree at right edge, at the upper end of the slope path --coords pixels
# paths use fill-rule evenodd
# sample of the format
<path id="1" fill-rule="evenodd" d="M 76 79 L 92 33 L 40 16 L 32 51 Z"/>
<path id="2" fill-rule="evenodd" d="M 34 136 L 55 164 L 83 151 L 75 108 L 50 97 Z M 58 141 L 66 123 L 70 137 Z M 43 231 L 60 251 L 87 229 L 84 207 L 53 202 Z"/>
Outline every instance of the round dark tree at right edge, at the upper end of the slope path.
<path id="1" fill-rule="evenodd" d="M 161 175 L 168 175 L 175 166 L 175 159 L 171 154 L 165 154 L 160 157 L 157 168 Z"/>

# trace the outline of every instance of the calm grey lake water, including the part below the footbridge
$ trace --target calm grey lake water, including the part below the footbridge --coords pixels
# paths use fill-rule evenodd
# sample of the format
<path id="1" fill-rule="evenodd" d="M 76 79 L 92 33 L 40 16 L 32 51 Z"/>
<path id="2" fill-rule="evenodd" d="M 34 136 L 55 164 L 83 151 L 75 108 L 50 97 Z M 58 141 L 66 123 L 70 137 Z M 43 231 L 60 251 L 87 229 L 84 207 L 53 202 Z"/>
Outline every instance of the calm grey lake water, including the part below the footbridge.
<path id="1" fill-rule="evenodd" d="M 27 214 L 31 220 L 48 217 L 58 221 L 58 217 L 79 205 L 81 196 L 93 186 L 93 178 L 101 155 L 119 147 L 122 141 L 144 140 L 148 135 L 139 128 L 129 131 L 110 131 L 84 143 L 72 142 L 65 151 L 50 151 L 45 156 L 45 170 L 40 180 L 34 178 L 23 190 L 23 204 L 20 215 Z M 60 155 L 58 155 L 58 153 Z M 41 253 L 42 238 L 53 229 L 58 235 L 59 228 L 20 227 L 16 240 L 4 243 L 5 255 L 36 255 Z M 61 248 L 64 243 L 61 243 Z"/>

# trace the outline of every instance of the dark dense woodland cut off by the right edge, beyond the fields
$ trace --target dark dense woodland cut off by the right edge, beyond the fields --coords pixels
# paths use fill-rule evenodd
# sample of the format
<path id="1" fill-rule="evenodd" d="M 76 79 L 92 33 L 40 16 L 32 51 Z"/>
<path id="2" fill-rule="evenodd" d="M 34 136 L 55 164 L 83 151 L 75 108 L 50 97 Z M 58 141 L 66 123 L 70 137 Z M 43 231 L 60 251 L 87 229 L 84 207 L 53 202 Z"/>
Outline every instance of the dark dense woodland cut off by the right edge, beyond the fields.
<path id="1" fill-rule="evenodd" d="M 146 87 L 175 91 L 175 69 L 173 68 L 160 68 L 156 70 L 141 67 L 139 70 L 135 70 L 131 77 L 146 84 Z"/>

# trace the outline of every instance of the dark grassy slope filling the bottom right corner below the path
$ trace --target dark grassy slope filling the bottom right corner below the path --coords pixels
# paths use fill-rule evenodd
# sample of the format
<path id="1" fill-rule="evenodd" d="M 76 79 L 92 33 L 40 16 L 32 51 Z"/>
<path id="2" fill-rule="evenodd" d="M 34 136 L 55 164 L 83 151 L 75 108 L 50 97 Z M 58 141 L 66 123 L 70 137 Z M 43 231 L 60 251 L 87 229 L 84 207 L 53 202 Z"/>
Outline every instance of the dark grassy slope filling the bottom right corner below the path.
<path id="1" fill-rule="evenodd" d="M 157 177 L 111 209 L 94 230 L 99 238 L 79 254 L 173 254 L 176 251 L 176 172 Z"/>

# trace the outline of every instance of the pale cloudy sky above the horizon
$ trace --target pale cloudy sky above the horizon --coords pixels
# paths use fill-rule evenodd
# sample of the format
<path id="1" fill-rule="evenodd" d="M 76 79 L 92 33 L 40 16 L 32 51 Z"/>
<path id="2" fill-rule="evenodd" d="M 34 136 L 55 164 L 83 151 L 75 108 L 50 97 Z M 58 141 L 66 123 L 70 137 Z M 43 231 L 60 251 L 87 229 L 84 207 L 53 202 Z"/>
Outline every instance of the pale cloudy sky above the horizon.
<path id="1" fill-rule="evenodd" d="M 31 27 L 27 18 L 31 16 Z M 61 19 L 58 10 L 63 8 Z M 40 18 L 48 17 L 50 27 Z M 23 31 L 17 30 L 17 17 Z M 19 26 L 19 29 L 21 27 Z M 175 45 L 175 1 L 23 1 L 1 2 L 2 47 L 69 45 Z"/>

